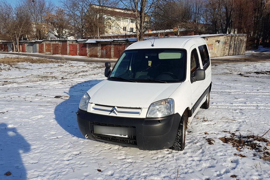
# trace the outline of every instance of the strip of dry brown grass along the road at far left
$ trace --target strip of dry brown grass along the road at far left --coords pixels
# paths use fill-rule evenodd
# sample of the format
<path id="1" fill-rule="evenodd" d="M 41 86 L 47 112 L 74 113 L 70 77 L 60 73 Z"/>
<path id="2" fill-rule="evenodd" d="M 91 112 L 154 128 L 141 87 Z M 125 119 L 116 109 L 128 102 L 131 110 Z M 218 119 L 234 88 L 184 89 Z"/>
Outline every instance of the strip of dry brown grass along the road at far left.
<path id="1" fill-rule="evenodd" d="M 50 60 L 46 58 L 32 58 L 32 57 L 4 57 L 0 58 L 0 63 L 12 65 L 13 63 L 64 63 L 65 61 Z"/>

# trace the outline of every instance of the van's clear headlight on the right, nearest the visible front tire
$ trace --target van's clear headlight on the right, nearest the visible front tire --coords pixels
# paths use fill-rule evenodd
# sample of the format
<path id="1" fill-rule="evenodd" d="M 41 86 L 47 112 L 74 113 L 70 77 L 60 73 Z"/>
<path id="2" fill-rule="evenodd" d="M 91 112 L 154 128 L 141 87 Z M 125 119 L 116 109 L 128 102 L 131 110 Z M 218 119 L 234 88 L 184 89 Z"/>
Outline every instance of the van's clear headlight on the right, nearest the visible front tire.
<path id="1" fill-rule="evenodd" d="M 166 99 L 153 102 L 147 112 L 146 117 L 164 117 L 174 113 L 174 100 Z"/>

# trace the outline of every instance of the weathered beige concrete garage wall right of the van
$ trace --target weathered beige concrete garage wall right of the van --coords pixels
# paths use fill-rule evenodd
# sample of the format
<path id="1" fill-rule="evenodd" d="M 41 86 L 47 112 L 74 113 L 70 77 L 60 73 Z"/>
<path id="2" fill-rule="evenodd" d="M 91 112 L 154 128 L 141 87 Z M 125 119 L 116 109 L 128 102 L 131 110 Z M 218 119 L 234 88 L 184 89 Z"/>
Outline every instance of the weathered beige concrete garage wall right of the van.
<path id="1" fill-rule="evenodd" d="M 205 36 L 211 57 L 232 56 L 245 54 L 246 34 L 226 34 Z"/>

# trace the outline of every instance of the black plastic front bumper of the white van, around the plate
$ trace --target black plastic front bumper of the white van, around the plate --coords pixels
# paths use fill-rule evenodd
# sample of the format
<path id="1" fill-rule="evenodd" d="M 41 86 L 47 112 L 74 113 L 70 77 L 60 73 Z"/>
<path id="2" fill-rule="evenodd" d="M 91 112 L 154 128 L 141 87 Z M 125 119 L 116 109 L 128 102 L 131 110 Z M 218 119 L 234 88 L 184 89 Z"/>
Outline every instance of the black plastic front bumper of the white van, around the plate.
<path id="1" fill-rule="evenodd" d="M 176 113 L 161 118 L 127 118 L 88 113 L 78 110 L 77 122 L 82 135 L 89 139 L 108 142 L 141 150 L 159 150 L 173 145 L 181 116 Z M 135 128 L 135 135 L 114 137 L 94 134 L 93 126 L 114 126 Z"/>

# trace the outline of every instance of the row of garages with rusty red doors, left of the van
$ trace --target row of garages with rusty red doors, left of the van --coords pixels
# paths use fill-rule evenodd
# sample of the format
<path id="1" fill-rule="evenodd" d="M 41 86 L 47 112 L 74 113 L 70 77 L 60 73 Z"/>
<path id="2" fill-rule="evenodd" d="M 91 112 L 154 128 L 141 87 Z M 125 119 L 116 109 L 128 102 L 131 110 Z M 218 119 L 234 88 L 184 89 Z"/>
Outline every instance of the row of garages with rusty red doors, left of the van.
<path id="1" fill-rule="evenodd" d="M 119 58 L 136 38 L 19 41 L 21 52 Z M 11 52 L 11 41 L 0 42 L 0 51 Z"/>

